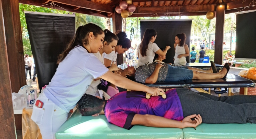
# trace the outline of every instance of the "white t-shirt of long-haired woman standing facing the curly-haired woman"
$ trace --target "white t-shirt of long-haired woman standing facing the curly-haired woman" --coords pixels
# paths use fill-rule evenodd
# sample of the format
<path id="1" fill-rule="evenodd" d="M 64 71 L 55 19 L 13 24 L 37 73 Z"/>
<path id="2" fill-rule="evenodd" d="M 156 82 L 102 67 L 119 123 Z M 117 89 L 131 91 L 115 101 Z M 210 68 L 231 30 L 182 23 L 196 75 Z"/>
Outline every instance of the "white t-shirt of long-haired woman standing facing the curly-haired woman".
<path id="1" fill-rule="evenodd" d="M 153 60 L 154 60 L 154 57 L 155 57 L 155 54 L 156 54 L 156 51 L 158 51 L 160 48 L 157 46 L 157 44 L 153 43 L 153 42 L 149 42 L 148 44 L 148 49 L 146 51 L 146 55 L 147 56 L 144 56 L 142 57 L 141 53 L 140 53 L 140 45 L 138 47 L 138 53 L 139 53 L 139 62 L 138 62 L 138 66 L 141 66 L 147 62 L 152 63 Z"/>

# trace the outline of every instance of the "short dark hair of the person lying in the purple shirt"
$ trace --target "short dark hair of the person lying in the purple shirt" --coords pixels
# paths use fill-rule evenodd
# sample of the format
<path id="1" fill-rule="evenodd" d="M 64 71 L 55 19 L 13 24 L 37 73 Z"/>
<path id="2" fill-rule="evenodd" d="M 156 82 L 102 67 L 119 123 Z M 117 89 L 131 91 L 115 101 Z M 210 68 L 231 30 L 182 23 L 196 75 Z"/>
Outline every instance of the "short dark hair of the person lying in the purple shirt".
<path id="1" fill-rule="evenodd" d="M 105 100 L 96 98 L 92 95 L 84 94 L 77 102 L 76 108 L 82 116 L 91 116 L 100 113 L 103 109 Z"/>

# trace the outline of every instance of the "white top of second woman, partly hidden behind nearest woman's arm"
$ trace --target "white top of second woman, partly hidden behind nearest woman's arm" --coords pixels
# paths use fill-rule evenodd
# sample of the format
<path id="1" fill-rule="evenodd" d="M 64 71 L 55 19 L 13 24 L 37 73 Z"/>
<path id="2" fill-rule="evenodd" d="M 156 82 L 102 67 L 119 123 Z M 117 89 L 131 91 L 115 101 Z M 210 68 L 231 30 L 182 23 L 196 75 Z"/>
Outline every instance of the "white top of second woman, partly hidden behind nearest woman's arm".
<path id="1" fill-rule="evenodd" d="M 95 55 L 99 61 L 104 65 L 104 60 L 101 56 L 101 54 L 99 52 L 93 54 Z M 100 79 L 99 80 L 92 80 L 90 86 L 88 87 L 88 89 L 86 90 L 86 94 L 89 94 L 89 95 L 93 95 L 93 96 L 100 96 L 99 94 L 99 91 L 98 91 L 98 85 L 100 84 Z"/>

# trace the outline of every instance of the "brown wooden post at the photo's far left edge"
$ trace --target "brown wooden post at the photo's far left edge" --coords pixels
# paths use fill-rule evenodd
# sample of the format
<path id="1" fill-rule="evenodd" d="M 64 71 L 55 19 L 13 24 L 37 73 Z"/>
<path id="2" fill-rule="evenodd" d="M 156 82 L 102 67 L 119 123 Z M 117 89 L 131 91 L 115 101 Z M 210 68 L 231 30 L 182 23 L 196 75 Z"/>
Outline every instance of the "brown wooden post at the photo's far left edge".
<path id="1" fill-rule="evenodd" d="M 3 13 L 3 8 L 10 8 L 11 5 L 3 5 L 3 1 L 7 0 L 0 0 L 0 135 L 3 139 L 16 139 L 17 136 L 15 133 L 16 130 L 14 125 L 11 79 L 5 36 L 5 24 L 3 19 L 4 14 L 7 14 Z"/>

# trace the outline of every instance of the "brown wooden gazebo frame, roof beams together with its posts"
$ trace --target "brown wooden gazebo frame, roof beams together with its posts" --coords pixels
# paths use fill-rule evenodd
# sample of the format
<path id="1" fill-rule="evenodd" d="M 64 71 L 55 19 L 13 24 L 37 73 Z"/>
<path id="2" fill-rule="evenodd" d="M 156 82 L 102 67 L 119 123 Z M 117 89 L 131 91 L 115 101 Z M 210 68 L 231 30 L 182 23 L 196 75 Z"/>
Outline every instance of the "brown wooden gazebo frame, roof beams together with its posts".
<path id="1" fill-rule="evenodd" d="M 16 138 L 16 129 L 21 130 L 21 115 L 15 115 L 12 105 L 12 92 L 18 92 L 26 85 L 22 31 L 19 3 L 51 8 L 54 2 L 59 10 L 67 10 L 111 18 L 113 32 L 122 30 L 121 14 L 115 7 L 122 0 L 0 0 L 0 135 L 4 139 Z M 225 14 L 255 10 L 253 0 L 133 0 L 136 10 L 130 17 L 206 15 L 216 11 L 214 63 L 222 64 L 223 32 Z M 60 6 L 60 7 L 59 7 Z M 246 9 L 245 9 L 246 8 Z M 122 55 L 117 63 L 122 63 Z M 15 122 L 14 122 L 15 119 Z M 16 128 L 15 128 L 16 125 Z"/>

